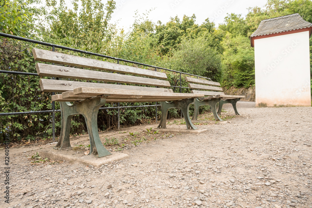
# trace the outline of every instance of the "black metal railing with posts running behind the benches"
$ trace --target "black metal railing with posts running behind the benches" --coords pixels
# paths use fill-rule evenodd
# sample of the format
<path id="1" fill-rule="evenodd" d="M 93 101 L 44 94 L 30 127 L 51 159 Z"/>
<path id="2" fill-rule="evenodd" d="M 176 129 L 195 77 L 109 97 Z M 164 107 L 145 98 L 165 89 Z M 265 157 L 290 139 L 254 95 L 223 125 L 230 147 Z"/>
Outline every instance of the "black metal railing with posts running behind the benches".
<path id="1" fill-rule="evenodd" d="M 212 81 L 210 78 L 203 77 L 203 76 L 193 75 L 193 74 L 189 74 L 189 73 L 185 73 L 185 72 L 181 72 L 181 71 L 175 71 L 175 70 L 171 70 L 171 69 L 166 69 L 166 68 L 153 66 L 153 65 L 149 65 L 149 64 L 143 64 L 143 63 L 139 63 L 139 62 L 136 62 L 136 61 L 120 59 L 120 58 L 116 58 L 116 57 L 112 57 L 112 56 L 106 56 L 106 55 L 103 55 L 103 54 L 93 53 L 93 52 L 90 52 L 90 51 L 83 51 L 83 50 L 70 48 L 70 47 L 66 47 L 66 46 L 60 46 L 60 45 L 56 45 L 56 44 L 52 44 L 52 43 L 37 41 L 37 40 L 29 39 L 29 38 L 14 36 L 14 35 L 2 33 L 2 32 L 0 32 L 0 36 L 16 39 L 16 40 L 20 40 L 20 41 L 31 42 L 31 43 L 35 43 L 35 44 L 39 44 L 39 45 L 44 45 L 44 46 L 51 46 L 52 47 L 52 51 L 54 51 L 55 48 L 60 48 L 60 49 L 68 50 L 68 51 L 75 51 L 75 52 L 79 52 L 79 53 L 89 54 L 89 55 L 92 55 L 92 56 L 99 56 L 99 57 L 104 57 L 104 58 L 108 58 L 108 59 L 114 59 L 114 60 L 117 60 L 118 64 L 119 64 L 119 61 L 123 61 L 123 62 L 127 62 L 127 63 L 132 63 L 132 64 L 137 64 L 137 65 L 152 67 L 152 68 L 155 69 L 155 71 L 157 71 L 157 69 L 162 69 L 162 70 L 167 70 L 167 71 L 179 73 L 180 74 L 180 80 L 179 80 L 179 82 L 180 82 L 179 84 L 180 85 L 179 86 L 170 86 L 170 87 L 172 87 L 172 88 L 180 88 L 180 92 L 182 92 L 182 88 L 189 89 L 188 87 L 182 87 L 181 74 L 190 75 L 190 76 L 196 76 L 197 78 L 200 77 L 200 78 L 204 78 L 204 79 Z M 7 70 L 0 70 L 0 73 L 39 76 L 37 73 L 7 71 Z M 54 79 L 54 78 L 52 78 L 52 79 Z M 157 102 L 155 103 L 155 105 L 137 105 L 137 106 L 120 106 L 119 103 L 118 103 L 117 107 L 105 107 L 105 108 L 100 108 L 100 109 L 118 109 L 118 130 L 119 130 L 119 128 L 120 128 L 120 125 L 119 125 L 120 124 L 120 109 L 123 109 L 123 108 L 155 107 L 156 108 L 156 123 L 157 123 L 157 106 L 160 106 L 160 105 L 157 104 Z M 56 110 L 55 109 L 55 102 L 53 101 L 52 102 L 52 110 L 0 113 L 0 116 L 52 113 L 52 126 L 53 126 L 52 127 L 52 141 L 55 142 L 55 112 L 60 112 L 60 111 L 61 110 Z M 181 112 L 181 117 L 182 117 L 182 112 Z"/>

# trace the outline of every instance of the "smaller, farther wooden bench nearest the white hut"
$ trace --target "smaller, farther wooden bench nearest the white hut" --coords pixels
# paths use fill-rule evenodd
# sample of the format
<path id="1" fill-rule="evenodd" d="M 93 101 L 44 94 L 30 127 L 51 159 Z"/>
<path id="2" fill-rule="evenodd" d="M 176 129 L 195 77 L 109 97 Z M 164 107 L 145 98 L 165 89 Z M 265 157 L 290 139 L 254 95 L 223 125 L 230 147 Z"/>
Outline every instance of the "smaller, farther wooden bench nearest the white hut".
<path id="1" fill-rule="evenodd" d="M 197 120 L 199 107 L 202 105 L 210 105 L 211 111 L 215 117 L 216 121 L 222 121 L 222 119 L 219 117 L 221 115 L 221 110 L 223 104 L 231 103 L 233 106 L 233 109 L 235 111 L 235 115 L 240 115 L 237 112 L 236 103 L 241 98 L 244 98 L 245 96 L 240 95 L 225 95 L 222 91 L 222 88 L 220 87 L 219 82 L 212 82 L 208 80 L 201 80 L 196 79 L 192 77 L 186 77 L 186 82 L 188 82 L 188 87 L 193 89 L 191 92 L 193 94 L 204 94 L 207 97 L 202 97 L 195 99 L 194 101 L 194 114 L 192 120 Z M 203 91 L 203 90 L 209 90 L 209 91 Z M 217 104 L 219 103 L 219 109 L 217 110 Z"/>

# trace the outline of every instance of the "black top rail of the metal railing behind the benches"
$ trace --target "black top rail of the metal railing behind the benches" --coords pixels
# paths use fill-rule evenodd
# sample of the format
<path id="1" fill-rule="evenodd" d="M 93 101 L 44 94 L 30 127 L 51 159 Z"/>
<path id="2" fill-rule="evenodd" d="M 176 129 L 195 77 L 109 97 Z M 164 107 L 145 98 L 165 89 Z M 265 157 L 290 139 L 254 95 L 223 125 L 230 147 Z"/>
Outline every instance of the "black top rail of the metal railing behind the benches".
<path id="1" fill-rule="evenodd" d="M 185 74 L 185 75 L 197 76 L 197 75 L 192 75 L 192 74 L 188 74 L 188 73 L 181 72 L 181 71 L 166 69 L 166 68 L 162 68 L 162 67 L 158 67 L 158 66 L 153 66 L 153 65 L 149 65 L 149 64 L 139 63 L 139 62 L 136 62 L 136 61 L 120 59 L 120 58 L 116 58 L 116 57 L 113 57 L 113 56 L 106 56 L 106 55 L 102 55 L 102 54 L 99 54 L 99 53 L 93 53 L 93 52 L 83 51 L 83 50 L 70 48 L 70 47 L 66 47 L 66 46 L 60 46 L 60 45 L 56 45 L 56 44 L 52 44 L 52 43 L 37 41 L 37 40 L 25 38 L 25 37 L 14 36 L 14 35 L 2 33 L 2 32 L 0 32 L 0 36 L 13 38 L 13 39 L 21 40 L 21 41 L 27 41 L 27 42 L 36 43 L 36 44 L 41 44 L 41 45 L 44 45 L 44 46 L 51 46 L 51 47 L 54 46 L 56 48 L 61 48 L 61 49 L 69 50 L 69 51 L 75 51 L 75 52 L 85 53 L 85 54 L 89 54 L 89 55 L 93 55 L 93 56 L 100 56 L 100 57 L 104 57 L 104 58 L 115 59 L 115 60 L 124 61 L 124 62 L 132 63 L 132 64 L 138 64 L 138 65 L 153 67 L 153 68 L 157 68 L 157 69 L 163 69 L 163 70 L 172 71 L 172 72 L 176 72 L 176 73 L 181 73 L 181 74 Z M 203 77 L 203 76 L 197 76 L 197 77 L 208 79 L 208 80 L 211 81 L 211 79 L 208 78 L 208 77 Z"/>

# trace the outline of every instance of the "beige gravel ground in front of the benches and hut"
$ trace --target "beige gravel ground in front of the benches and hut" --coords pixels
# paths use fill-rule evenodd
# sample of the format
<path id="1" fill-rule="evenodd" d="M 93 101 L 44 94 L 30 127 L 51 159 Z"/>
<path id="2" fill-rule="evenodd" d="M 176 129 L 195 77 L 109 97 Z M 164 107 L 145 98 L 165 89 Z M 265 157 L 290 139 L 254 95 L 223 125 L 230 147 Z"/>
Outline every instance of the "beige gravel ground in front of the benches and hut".
<path id="1" fill-rule="evenodd" d="M 33 165 L 34 147 L 11 148 L 10 204 L 2 185 L 0 206 L 312 208 L 312 108 L 254 106 L 239 102 L 244 116 L 206 133 L 130 145 L 128 159 L 100 168 Z"/>

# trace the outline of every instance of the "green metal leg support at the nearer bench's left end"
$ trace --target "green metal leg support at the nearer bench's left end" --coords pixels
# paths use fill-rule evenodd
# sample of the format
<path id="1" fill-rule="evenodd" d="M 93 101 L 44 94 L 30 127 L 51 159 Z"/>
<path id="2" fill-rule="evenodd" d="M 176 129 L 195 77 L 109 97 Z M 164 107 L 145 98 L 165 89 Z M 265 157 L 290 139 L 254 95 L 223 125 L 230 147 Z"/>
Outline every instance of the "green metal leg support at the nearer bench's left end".
<path id="1" fill-rule="evenodd" d="M 55 149 L 70 148 L 69 133 L 71 128 L 71 119 L 74 115 L 81 114 L 85 118 L 90 138 L 90 155 L 98 153 L 98 157 L 111 155 L 103 146 L 98 128 L 97 114 L 99 108 L 106 102 L 105 96 L 97 96 L 93 99 L 85 99 L 74 104 L 70 102 L 60 102 L 61 105 L 61 134 Z"/>

